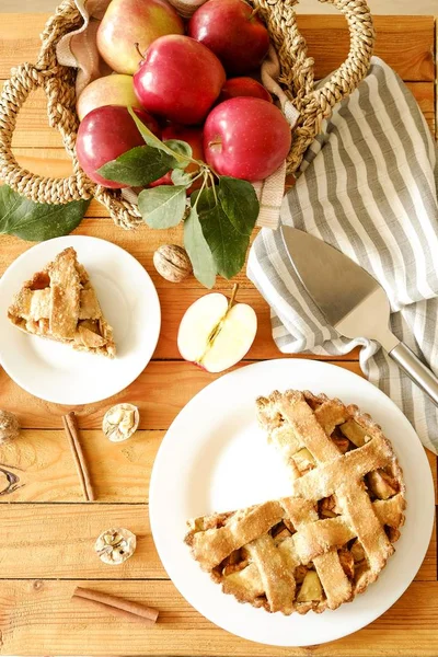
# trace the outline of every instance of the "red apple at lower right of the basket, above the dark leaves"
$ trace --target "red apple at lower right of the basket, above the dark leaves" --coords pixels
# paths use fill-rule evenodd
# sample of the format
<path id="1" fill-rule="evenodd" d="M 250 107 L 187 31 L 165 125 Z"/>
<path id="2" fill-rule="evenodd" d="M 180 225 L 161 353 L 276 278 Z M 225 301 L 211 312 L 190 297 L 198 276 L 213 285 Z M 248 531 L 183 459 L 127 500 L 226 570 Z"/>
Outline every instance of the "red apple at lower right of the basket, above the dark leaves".
<path id="1" fill-rule="evenodd" d="M 289 152 L 290 126 L 281 112 L 262 99 L 231 99 L 217 105 L 204 127 L 208 164 L 221 175 L 262 181 Z"/>

